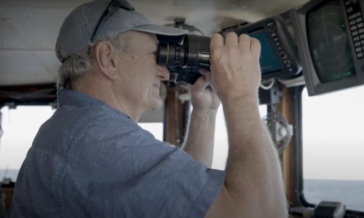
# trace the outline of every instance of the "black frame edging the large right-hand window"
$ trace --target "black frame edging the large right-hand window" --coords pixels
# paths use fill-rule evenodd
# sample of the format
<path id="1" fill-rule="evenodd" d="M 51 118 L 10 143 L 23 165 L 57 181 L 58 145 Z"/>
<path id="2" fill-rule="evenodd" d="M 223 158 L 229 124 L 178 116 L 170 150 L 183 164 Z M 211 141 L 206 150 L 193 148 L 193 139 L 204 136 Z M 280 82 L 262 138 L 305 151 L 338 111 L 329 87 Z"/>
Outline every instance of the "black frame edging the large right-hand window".
<path id="1" fill-rule="evenodd" d="M 316 204 L 307 202 L 303 192 L 303 120 L 302 120 L 302 94 L 306 86 L 293 87 L 293 147 L 290 162 L 293 165 L 293 184 L 291 193 L 294 193 L 292 206 L 304 206 L 314 208 Z M 346 215 L 364 217 L 364 211 L 347 210 Z"/>

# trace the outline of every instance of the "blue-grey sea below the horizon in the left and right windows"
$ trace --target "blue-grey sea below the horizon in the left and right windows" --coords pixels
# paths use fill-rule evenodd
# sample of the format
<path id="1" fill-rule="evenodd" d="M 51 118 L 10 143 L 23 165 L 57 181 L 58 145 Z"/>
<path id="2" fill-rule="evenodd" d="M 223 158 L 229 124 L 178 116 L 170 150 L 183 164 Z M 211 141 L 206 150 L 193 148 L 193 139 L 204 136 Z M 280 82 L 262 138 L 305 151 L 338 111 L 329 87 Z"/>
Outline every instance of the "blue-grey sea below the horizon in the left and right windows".
<path id="1" fill-rule="evenodd" d="M 5 170 L 0 169 L 0 180 Z M 18 170 L 8 170 L 6 177 L 17 179 Z M 343 202 L 347 209 L 364 211 L 364 181 L 304 179 L 303 193 L 307 202 Z"/>

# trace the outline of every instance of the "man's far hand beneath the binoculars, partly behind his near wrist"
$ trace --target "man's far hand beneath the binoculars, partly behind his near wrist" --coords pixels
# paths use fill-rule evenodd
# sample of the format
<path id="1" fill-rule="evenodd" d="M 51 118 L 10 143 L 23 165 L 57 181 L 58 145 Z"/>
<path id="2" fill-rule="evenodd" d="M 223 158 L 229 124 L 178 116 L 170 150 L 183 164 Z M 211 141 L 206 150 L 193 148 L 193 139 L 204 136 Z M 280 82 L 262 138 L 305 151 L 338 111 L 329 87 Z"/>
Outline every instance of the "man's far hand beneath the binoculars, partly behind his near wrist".
<path id="1" fill-rule="evenodd" d="M 204 74 L 204 71 L 201 71 Z M 220 106 L 220 99 L 214 90 L 209 87 L 208 79 L 202 75 L 197 79 L 194 85 L 188 85 L 190 88 L 191 104 L 194 109 L 217 110 Z"/>

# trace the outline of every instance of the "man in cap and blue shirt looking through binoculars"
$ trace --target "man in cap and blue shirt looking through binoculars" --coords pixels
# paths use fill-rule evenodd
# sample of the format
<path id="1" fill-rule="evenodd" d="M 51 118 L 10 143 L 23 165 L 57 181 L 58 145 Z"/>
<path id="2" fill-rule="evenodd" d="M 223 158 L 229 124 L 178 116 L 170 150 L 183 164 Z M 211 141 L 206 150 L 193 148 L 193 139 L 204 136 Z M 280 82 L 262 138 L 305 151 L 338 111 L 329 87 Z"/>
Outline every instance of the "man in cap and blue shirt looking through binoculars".
<path id="1" fill-rule="evenodd" d="M 160 83 L 169 77 L 155 61 L 155 34 L 186 31 L 151 25 L 124 1 L 114 10 L 115 2 L 83 4 L 61 27 L 59 109 L 19 171 L 10 217 L 287 217 L 280 164 L 258 110 L 259 42 L 212 37 L 211 72 L 191 87 L 187 154 L 137 125 L 161 108 Z M 209 168 L 219 99 L 226 171 Z"/>

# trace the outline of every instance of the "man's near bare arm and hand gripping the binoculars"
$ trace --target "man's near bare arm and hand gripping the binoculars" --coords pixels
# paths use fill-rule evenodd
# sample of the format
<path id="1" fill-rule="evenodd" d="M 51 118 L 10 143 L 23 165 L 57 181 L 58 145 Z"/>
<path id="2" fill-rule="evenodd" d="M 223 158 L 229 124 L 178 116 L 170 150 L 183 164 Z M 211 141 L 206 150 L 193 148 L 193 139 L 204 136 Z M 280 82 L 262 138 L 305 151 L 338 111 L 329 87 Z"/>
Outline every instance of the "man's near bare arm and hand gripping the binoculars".
<path id="1" fill-rule="evenodd" d="M 229 139 L 226 176 L 206 218 L 286 218 L 281 166 L 258 109 L 260 43 L 235 33 L 211 39 L 211 81 Z"/>

